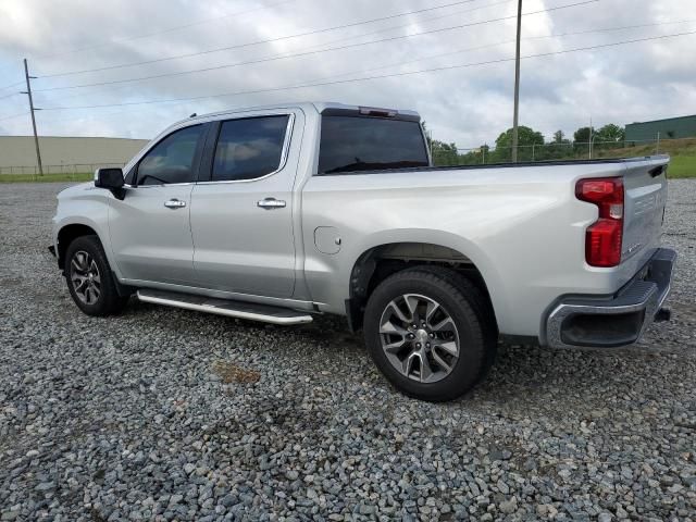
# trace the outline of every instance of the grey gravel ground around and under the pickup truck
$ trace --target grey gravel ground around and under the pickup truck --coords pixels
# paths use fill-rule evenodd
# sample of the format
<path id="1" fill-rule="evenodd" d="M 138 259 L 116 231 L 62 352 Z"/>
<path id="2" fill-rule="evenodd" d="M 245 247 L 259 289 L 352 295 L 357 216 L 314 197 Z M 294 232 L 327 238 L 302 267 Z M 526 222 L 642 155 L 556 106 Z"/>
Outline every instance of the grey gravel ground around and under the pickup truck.
<path id="1" fill-rule="evenodd" d="M 696 182 L 671 182 L 671 323 L 504 346 L 446 405 L 332 319 L 80 314 L 46 251 L 60 188 L 0 186 L 0 520 L 696 520 Z"/>

